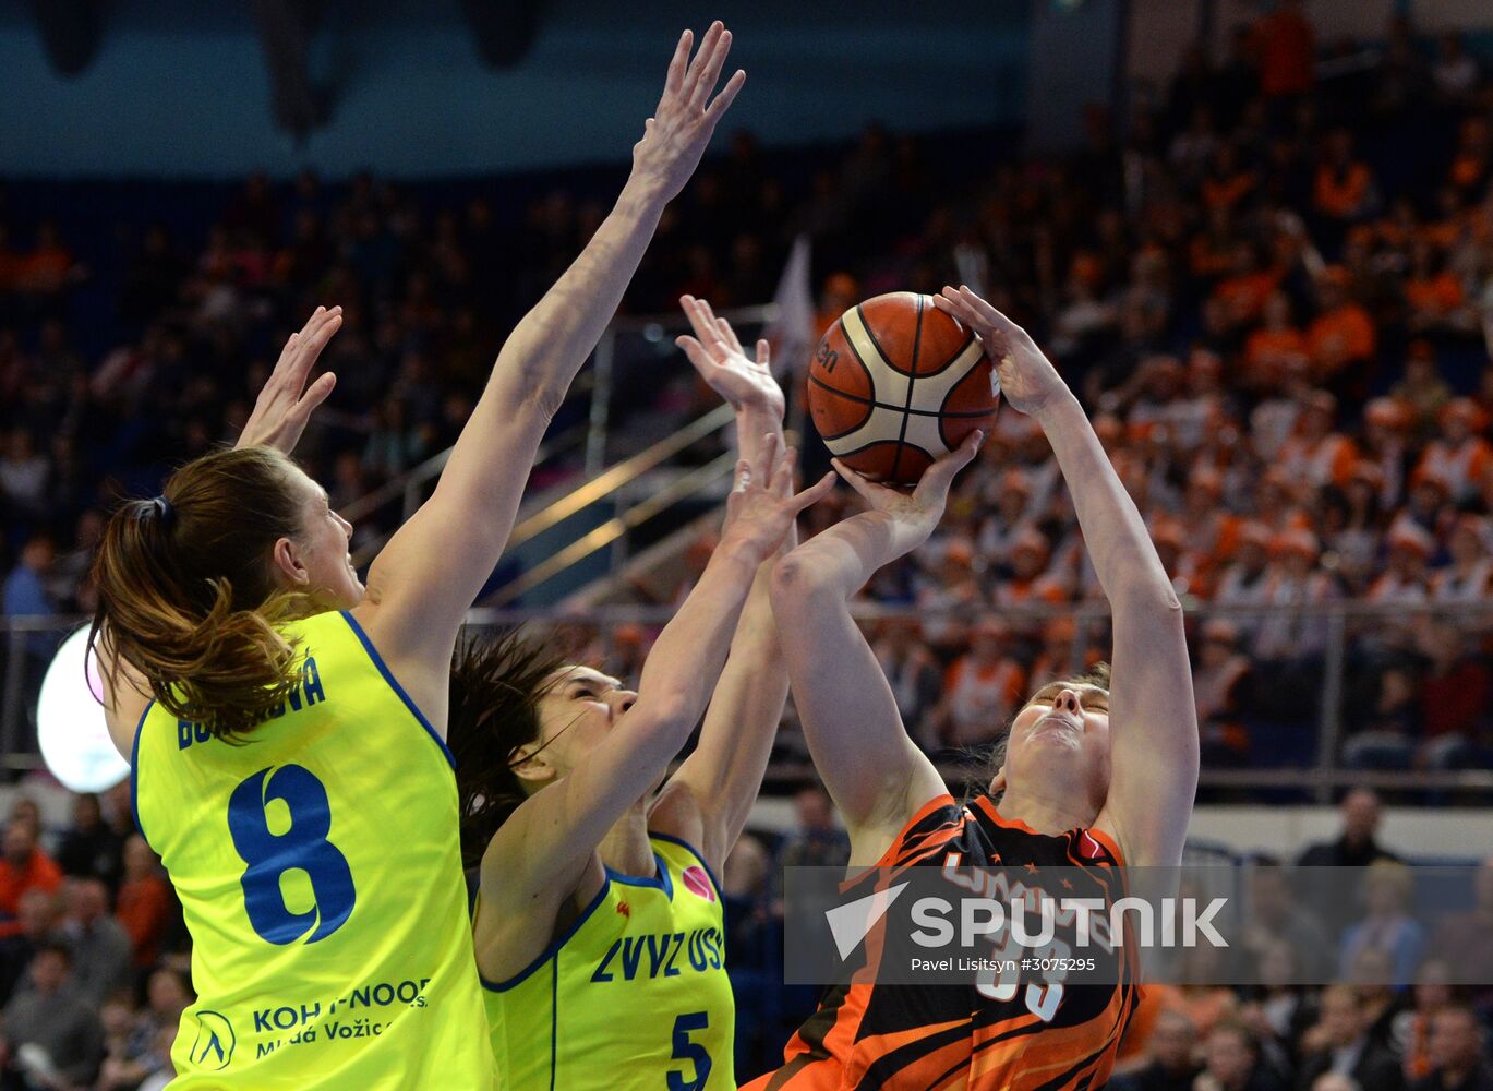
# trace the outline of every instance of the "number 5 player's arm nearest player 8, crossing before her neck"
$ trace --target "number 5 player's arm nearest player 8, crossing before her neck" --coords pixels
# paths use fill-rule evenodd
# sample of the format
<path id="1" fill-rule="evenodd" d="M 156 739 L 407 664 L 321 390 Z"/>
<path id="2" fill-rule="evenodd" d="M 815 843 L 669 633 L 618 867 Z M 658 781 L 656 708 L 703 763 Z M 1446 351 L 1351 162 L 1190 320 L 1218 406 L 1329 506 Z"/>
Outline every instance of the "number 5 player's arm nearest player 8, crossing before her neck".
<path id="1" fill-rule="evenodd" d="M 826 478 L 793 495 L 793 459 L 769 441 L 738 465 L 721 544 L 658 635 L 638 699 L 569 776 L 526 800 L 482 858 L 478 959 L 487 976 L 523 968 L 549 942 L 597 846 L 679 752 L 715 689 L 746 592 L 799 511 L 829 493 Z"/>

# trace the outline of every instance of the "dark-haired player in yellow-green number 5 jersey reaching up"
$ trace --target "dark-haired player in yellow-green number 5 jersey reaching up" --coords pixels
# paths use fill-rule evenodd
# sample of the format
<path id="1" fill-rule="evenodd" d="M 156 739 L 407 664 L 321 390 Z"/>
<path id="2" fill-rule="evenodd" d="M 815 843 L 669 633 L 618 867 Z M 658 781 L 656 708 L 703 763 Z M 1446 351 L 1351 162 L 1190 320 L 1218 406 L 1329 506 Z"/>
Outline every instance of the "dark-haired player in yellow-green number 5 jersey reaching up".
<path id="1" fill-rule="evenodd" d="M 679 344 L 736 408 L 744 459 L 776 457 L 782 392 L 766 342 L 752 362 L 705 302 L 682 303 L 696 336 Z M 784 475 L 775 492 L 785 489 Z M 736 516 L 636 693 L 512 637 L 458 653 L 451 741 L 481 861 L 476 956 L 506 1087 L 736 1088 L 715 876 L 787 699 L 767 554 L 793 543 L 787 520 L 754 543 L 742 534 Z M 655 797 L 702 711 L 699 746 Z"/>

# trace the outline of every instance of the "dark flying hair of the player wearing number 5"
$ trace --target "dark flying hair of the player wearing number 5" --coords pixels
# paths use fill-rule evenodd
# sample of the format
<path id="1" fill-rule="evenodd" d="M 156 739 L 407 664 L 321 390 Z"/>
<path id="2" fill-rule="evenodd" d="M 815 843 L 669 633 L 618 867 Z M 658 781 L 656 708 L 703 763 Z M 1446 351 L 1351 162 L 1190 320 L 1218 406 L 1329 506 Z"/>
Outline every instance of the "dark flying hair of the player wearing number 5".
<path id="1" fill-rule="evenodd" d="M 564 649 L 518 629 L 457 644 L 446 746 L 457 765 L 467 867 L 482 861 L 493 834 L 527 798 L 514 752 L 539 738 L 539 698 L 566 662 Z"/>

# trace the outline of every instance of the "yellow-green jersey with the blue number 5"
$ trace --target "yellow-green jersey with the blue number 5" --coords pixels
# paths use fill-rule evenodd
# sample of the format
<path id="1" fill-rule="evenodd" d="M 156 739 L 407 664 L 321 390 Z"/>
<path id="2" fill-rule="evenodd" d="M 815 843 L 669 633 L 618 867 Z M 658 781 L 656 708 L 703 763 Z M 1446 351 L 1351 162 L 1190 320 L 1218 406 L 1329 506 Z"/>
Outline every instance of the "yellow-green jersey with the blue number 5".
<path id="1" fill-rule="evenodd" d="M 482 982 L 508 1091 L 735 1091 L 720 886 L 654 834 L 658 873 L 606 885 L 527 970 Z"/>

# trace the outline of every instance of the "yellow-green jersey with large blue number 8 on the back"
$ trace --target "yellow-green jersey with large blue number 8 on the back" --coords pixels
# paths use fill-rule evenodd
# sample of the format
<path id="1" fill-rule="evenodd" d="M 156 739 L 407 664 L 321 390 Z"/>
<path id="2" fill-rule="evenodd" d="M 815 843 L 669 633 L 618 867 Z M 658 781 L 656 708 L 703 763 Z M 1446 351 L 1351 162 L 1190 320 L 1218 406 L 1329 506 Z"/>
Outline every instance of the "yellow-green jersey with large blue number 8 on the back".
<path id="1" fill-rule="evenodd" d="M 136 822 L 197 989 L 172 1087 L 487 1091 L 451 752 L 351 614 L 287 629 L 300 684 L 245 741 L 140 717 Z"/>

